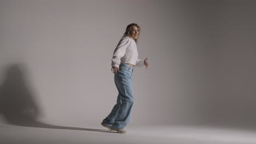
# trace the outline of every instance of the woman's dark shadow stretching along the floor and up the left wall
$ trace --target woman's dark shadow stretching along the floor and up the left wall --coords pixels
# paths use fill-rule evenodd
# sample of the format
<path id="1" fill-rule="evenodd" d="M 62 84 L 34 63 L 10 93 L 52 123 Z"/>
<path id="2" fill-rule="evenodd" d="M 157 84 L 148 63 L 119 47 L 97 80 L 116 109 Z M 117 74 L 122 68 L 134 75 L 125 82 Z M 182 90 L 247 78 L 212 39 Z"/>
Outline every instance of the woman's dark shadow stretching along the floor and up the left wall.
<path id="1" fill-rule="evenodd" d="M 109 130 L 62 127 L 37 121 L 39 116 L 38 105 L 26 85 L 26 76 L 22 70 L 24 70 L 24 67 L 21 64 L 9 65 L 6 70 L 4 82 L 0 87 L 0 114 L 4 116 L 9 124 L 24 127 L 113 133 L 113 131 Z"/>

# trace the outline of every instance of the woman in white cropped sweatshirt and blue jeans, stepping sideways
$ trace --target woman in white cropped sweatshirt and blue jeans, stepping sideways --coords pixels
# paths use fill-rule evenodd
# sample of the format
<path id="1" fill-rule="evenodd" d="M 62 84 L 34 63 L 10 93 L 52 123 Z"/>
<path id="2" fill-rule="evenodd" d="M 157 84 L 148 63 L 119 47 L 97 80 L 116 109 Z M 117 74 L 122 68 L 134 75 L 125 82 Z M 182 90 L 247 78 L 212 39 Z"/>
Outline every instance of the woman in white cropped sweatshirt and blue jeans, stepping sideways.
<path id="1" fill-rule="evenodd" d="M 140 27 L 131 23 L 114 50 L 111 71 L 114 73 L 115 86 L 118 89 L 117 104 L 101 123 L 109 130 L 125 134 L 124 127 L 130 120 L 133 105 L 132 73 L 133 67 L 148 68 L 147 59 L 138 59 L 137 42 Z"/>

